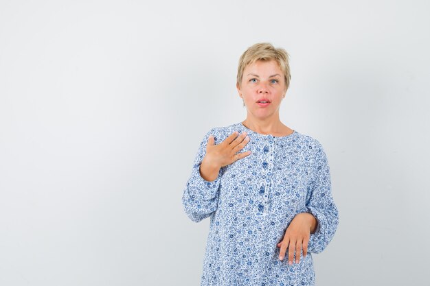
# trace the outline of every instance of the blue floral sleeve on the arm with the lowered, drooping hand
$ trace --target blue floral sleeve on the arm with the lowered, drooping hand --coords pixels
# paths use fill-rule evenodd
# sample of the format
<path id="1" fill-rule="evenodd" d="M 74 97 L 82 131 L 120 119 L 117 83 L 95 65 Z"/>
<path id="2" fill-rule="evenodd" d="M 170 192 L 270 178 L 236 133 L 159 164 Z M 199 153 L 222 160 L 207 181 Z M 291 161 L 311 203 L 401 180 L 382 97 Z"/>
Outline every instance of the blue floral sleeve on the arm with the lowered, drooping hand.
<path id="1" fill-rule="evenodd" d="M 308 251 L 319 253 L 332 240 L 339 224 L 339 212 L 331 194 L 330 167 L 324 149 L 316 141 L 315 177 L 310 186 L 310 195 L 306 202 L 306 211 L 312 213 L 318 221 L 315 233 L 310 235 Z"/>

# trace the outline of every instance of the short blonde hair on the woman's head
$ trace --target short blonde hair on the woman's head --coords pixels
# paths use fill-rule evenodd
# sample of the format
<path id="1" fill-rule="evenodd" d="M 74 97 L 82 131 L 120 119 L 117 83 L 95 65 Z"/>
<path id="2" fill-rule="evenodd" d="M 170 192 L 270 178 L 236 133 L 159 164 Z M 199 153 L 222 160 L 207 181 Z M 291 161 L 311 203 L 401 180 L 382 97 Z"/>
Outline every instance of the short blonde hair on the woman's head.
<path id="1" fill-rule="evenodd" d="M 248 64 L 253 64 L 257 60 L 275 60 L 284 73 L 285 90 L 287 90 L 291 80 L 288 57 L 288 53 L 284 49 L 275 49 L 271 43 L 257 43 L 252 45 L 240 56 L 236 83 L 238 86 L 242 83 L 243 71 L 245 71 L 245 67 L 247 67 Z"/>

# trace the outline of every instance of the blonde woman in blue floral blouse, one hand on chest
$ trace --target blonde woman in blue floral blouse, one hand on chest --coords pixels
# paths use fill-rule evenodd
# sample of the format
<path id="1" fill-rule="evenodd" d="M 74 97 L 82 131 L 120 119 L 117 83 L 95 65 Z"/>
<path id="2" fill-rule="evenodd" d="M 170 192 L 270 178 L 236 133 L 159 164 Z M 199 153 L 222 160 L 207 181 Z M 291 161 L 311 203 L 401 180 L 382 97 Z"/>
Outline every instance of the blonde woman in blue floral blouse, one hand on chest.
<path id="1" fill-rule="evenodd" d="M 210 217 L 201 285 L 315 285 L 311 253 L 339 216 L 321 143 L 280 121 L 290 79 L 284 49 L 249 47 L 236 84 L 247 118 L 201 141 L 182 196 L 192 221 Z"/>

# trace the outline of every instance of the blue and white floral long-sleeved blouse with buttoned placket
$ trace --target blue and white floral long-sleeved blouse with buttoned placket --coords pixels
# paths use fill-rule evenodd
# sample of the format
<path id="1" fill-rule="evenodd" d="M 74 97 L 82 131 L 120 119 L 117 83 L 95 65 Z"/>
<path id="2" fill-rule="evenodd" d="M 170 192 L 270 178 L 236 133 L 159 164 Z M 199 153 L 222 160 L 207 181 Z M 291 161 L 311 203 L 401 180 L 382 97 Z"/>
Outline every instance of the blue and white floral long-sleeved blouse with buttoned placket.
<path id="1" fill-rule="evenodd" d="M 251 154 L 222 167 L 214 181 L 201 177 L 207 139 L 215 144 L 234 131 L 249 142 L 239 152 Z M 192 174 L 183 191 L 185 213 L 193 222 L 210 217 L 201 286 L 315 285 L 311 253 L 324 250 L 339 224 L 330 186 L 330 169 L 321 143 L 294 132 L 260 134 L 241 122 L 212 128 L 200 143 Z M 317 219 L 308 254 L 288 265 L 288 250 L 279 260 L 284 231 L 297 213 Z M 296 255 L 296 254 L 295 254 Z"/>

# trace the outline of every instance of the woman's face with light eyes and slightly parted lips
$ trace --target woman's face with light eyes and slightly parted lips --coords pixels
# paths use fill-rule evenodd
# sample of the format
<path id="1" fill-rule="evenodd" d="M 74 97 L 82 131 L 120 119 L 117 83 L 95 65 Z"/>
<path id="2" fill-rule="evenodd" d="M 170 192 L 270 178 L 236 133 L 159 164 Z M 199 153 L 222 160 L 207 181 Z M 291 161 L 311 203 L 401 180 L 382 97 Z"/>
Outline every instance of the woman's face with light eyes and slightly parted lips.
<path id="1" fill-rule="evenodd" d="M 275 60 L 258 60 L 243 71 L 239 96 L 247 106 L 248 115 L 264 119 L 276 115 L 286 93 L 284 73 Z M 261 102 L 265 100 L 267 103 Z"/>

